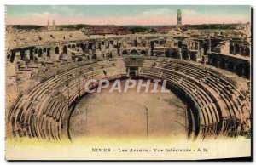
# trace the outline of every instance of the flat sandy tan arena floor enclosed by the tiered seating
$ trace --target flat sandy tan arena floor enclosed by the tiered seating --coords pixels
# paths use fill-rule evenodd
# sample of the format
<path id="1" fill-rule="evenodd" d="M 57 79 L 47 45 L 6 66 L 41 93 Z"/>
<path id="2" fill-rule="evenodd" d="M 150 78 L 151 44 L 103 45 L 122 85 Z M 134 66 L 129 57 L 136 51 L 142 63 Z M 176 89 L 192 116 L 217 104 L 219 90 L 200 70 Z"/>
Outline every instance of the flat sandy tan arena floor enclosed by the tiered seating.
<path id="1" fill-rule="evenodd" d="M 147 138 L 145 107 L 148 138 L 186 136 L 186 105 L 175 94 L 137 93 L 136 88 L 119 94 L 106 88 L 80 100 L 70 119 L 71 138 Z"/>

